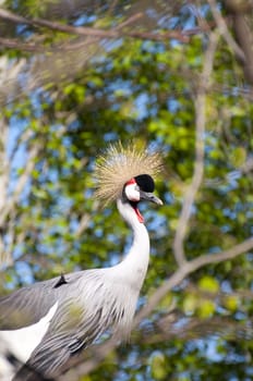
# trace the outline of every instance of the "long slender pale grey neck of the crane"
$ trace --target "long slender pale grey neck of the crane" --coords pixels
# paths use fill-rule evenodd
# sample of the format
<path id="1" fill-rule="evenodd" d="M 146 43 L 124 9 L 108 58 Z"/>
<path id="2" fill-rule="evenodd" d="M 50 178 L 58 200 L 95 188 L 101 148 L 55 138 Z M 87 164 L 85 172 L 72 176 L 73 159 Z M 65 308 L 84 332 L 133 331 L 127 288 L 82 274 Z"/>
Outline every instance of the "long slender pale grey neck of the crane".
<path id="1" fill-rule="evenodd" d="M 133 242 L 125 258 L 118 265 L 122 275 L 135 287 L 141 288 L 146 275 L 149 260 L 149 236 L 144 223 L 141 223 L 130 204 L 118 199 L 120 214 L 133 231 Z"/>

